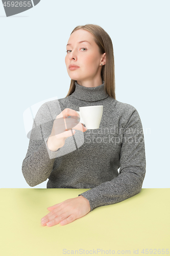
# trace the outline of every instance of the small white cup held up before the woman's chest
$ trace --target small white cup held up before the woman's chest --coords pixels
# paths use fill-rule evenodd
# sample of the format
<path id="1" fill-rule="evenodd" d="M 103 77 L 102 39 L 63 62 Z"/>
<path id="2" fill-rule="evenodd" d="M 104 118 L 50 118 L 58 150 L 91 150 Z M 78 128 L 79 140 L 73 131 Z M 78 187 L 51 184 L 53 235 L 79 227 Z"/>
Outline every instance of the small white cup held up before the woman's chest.
<path id="1" fill-rule="evenodd" d="M 80 122 L 86 125 L 87 129 L 99 129 L 103 105 L 99 106 L 81 106 L 80 111 L 76 111 L 80 116 Z"/>

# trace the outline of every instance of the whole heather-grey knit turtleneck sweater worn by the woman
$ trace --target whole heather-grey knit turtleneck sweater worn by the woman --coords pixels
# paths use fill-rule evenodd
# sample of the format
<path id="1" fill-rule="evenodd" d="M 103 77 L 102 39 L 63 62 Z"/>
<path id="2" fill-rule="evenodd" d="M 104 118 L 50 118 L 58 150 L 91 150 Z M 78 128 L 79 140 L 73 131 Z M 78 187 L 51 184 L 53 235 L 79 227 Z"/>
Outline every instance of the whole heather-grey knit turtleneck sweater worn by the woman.
<path id="1" fill-rule="evenodd" d="M 39 108 L 22 174 L 32 187 L 48 179 L 47 188 L 89 188 L 78 196 L 85 197 L 93 210 L 140 192 L 146 167 L 143 129 L 134 106 L 106 94 L 104 81 L 94 88 L 75 85 L 68 97 Z M 50 151 L 46 142 L 56 117 L 66 108 L 79 111 L 80 106 L 91 105 L 103 105 L 100 128 L 75 130 L 63 147 Z"/>

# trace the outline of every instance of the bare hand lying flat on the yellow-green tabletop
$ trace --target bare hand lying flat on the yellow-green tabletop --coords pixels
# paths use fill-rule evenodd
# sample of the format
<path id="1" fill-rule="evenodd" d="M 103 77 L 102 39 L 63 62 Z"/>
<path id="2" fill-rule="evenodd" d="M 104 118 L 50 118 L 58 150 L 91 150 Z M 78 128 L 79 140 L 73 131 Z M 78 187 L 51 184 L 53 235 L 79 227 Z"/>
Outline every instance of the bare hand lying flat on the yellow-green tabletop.
<path id="1" fill-rule="evenodd" d="M 68 224 L 85 216 L 91 210 L 89 201 L 83 196 L 67 199 L 47 209 L 50 212 L 41 219 L 41 225 L 48 227 L 59 223 L 60 225 Z"/>

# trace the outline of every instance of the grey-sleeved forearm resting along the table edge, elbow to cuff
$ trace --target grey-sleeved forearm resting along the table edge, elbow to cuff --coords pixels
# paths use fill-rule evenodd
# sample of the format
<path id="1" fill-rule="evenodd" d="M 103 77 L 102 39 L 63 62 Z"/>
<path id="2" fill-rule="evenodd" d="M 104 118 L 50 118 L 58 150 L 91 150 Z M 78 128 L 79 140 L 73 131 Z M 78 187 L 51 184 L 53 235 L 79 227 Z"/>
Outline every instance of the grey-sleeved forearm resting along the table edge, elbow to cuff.
<path id="1" fill-rule="evenodd" d="M 145 176 L 145 168 L 140 166 L 126 168 L 127 171 L 124 169 L 113 180 L 79 194 L 89 200 L 91 210 L 98 206 L 124 201 L 140 192 Z"/>

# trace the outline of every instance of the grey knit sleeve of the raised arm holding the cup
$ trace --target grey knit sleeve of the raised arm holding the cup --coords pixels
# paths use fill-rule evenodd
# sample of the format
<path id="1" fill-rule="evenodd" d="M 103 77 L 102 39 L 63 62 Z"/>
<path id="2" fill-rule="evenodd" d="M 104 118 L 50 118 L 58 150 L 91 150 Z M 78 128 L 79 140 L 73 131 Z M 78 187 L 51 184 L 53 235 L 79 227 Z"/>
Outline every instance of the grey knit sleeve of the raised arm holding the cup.
<path id="1" fill-rule="evenodd" d="M 53 170 L 57 153 L 49 150 L 48 137 L 53 128 L 53 118 L 46 102 L 35 116 L 30 135 L 30 142 L 25 159 L 22 162 L 22 174 L 26 182 L 34 187 L 45 181 Z"/>

